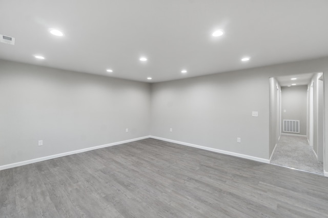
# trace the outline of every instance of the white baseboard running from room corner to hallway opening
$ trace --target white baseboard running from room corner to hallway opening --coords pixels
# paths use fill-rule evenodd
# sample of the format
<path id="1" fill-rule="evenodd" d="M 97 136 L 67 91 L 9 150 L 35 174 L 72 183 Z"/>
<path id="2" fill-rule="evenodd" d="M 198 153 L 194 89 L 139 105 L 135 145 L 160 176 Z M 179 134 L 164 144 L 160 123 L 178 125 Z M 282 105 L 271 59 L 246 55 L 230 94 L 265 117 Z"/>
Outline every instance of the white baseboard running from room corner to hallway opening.
<path id="1" fill-rule="evenodd" d="M 162 140 L 162 141 L 169 141 L 169 142 L 173 142 L 173 143 L 177 143 L 177 144 L 182 144 L 183 146 L 189 146 L 189 147 L 193 147 L 193 148 L 197 148 L 197 149 L 208 150 L 208 151 L 212 151 L 212 152 L 216 152 L 216 153 L 220 153 L 220 154 L 227 154 L 227 155 L 231 155 L 231 156 L 235 156 L 235 157 L 241 157 L 241 158 L 245 158 L 245 159 L 255 160 L 255 161 L 262 162 L 262 163 L 270 163 L 270 160 L 268 160 L 268 159 L 234 153 L 234 152 L 229 152 L 229 151 L 223 151 L 223 150 L 219 150 L 219 149 L 213 149 L 213 148 L 204 147 L 204 146 L 198 146 L 197 144 L 191 144 L 191 143 L 187 143 L 187 142 L 176 141 L 176 140 L 161 138 L 161 137 L 152 136 L 152 135 L 150 136 L 150 138 L 154 138 L 154 139 L 158 139 L 158 140 Z"/>

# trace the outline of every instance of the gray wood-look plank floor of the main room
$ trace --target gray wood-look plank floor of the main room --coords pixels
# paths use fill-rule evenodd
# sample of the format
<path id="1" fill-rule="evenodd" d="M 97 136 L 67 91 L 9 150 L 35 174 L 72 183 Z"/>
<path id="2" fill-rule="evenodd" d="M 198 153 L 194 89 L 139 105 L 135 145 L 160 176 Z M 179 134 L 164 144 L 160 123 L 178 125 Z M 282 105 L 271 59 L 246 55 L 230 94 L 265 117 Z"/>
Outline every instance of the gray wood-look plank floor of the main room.
<path id="1" fill-rule="evenodd" d="M 0 171 L 0 217 L 328 217 L 328 178 L 149 138 Z"/>

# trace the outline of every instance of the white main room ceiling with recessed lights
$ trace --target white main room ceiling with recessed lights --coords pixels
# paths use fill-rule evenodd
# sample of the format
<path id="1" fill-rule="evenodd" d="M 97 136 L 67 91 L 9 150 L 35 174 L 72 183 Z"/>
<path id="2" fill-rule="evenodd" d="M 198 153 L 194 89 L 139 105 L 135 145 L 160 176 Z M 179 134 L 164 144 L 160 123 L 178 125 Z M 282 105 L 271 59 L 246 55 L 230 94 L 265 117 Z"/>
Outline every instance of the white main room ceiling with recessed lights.
<path id="1" fill-rule="evenodd" d="M 145 82 L 313 59 L 328 56 L 327 9 L 327 0 L 0 1 L 0 34 L 16 39 L 0 43 L 0 59 Z"/>

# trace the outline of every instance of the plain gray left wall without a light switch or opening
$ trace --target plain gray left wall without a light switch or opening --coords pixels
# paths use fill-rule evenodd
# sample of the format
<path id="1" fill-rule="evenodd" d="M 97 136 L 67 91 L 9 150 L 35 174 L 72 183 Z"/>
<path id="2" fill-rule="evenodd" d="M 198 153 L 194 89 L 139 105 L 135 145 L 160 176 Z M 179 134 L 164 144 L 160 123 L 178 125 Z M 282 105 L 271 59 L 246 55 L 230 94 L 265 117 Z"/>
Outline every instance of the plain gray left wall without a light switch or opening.
<path id="1" fill-rule="evenodd" d="M 0 100 L 0 166 L 149 135 L 148 83 L 0 60 Z"/>

